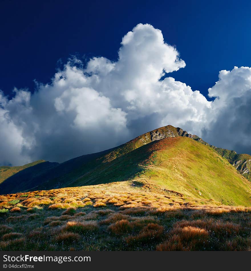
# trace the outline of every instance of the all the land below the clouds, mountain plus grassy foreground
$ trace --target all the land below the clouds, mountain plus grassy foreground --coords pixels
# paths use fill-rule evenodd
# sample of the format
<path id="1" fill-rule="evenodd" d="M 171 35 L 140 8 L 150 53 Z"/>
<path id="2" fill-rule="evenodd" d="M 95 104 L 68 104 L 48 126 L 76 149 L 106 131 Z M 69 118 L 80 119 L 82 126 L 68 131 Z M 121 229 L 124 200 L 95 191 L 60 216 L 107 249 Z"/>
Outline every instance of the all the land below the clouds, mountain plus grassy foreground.
<path id="1" fill-rule="evenodd" d="M 0 167 L 12 192 L 0 250 L 250 250 L 248 160 L 165 126 L 61 164 Z"/>

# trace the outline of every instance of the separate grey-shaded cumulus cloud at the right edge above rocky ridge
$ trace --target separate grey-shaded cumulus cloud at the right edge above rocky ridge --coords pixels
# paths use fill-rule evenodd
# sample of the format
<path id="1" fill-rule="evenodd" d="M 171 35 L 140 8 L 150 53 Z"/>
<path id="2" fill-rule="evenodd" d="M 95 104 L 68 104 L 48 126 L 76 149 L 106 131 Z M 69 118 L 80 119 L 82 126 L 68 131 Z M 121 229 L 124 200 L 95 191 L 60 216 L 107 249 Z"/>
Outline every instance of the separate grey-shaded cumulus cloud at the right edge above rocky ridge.
<path id="1" fill-rule="evenodd" d="M 210 143 L 251 154 L 251 68 L 234 67 L 222 70 L 219 80 L 209 88 L 212 103 L 212 121 L 202 136 Z"/>

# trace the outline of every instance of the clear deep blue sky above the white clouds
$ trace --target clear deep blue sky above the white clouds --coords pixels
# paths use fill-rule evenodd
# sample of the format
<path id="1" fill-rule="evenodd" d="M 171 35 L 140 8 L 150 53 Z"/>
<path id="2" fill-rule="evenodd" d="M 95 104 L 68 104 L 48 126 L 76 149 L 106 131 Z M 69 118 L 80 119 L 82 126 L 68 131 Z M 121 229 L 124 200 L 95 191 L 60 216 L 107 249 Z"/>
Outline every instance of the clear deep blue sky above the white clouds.
<path id="1" fill-rule="evenodd" d="M 149 23 L 187 64 L 171 76 L 207 95 L 220 70 L 251 66 L 250 10 L 250 1 L 0 1 L 0 89 L 33 90 L 71 54 L 116 60 L 122 37 Z"/>

